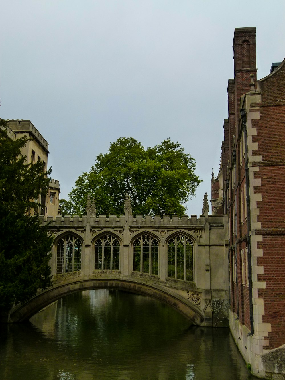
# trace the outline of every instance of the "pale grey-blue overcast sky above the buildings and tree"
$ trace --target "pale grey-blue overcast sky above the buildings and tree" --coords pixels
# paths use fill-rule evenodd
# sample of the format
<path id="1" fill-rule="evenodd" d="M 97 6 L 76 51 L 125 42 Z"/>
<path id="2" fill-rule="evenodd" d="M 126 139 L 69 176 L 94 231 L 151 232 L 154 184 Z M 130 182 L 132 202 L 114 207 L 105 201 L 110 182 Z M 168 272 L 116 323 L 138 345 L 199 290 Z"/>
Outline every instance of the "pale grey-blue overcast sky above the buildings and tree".
<path id="1" fill-rule="evenodd" d="M 61 198 L 110 142 L 170 137 L 195 158 L 201 214 L 217 175 L 235 27 L 256 27 L 258 79 L 285 56 L 285 1 L 2 0 L 0 117 L 49 143 Z M 211 205 L 210 205 L 211 209 Z"/>

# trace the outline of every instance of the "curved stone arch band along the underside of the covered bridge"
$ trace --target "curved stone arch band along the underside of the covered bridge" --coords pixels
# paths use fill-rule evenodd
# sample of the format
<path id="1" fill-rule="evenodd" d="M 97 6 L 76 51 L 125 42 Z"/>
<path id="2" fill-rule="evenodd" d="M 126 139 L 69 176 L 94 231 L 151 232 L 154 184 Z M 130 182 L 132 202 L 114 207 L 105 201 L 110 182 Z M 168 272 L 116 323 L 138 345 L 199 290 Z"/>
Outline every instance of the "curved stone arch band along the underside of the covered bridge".
<path id="1" fill-rule="evenodd" d="M 159 287 L 159 285 L 148 285 L 143 282 L 138 282 L 137 278 L 135 280 L 108 278 L 82 279 L 76 282 L 58 283 L 53 288 L 38 294 L 25 304 L 17 305 L 11 309 L 9 321 L 26 321 L 44 307 L 68 294 L 92 289 L 117 289 L 150 296 L 173 307 L 188 318 L 192 324 L 200 326 L 204 323 L 204 313 L 198 306 L 191 304 L 191 302 L 180 297 L 178 294 L 171 293 L 171 290 L 167 291 L 167 289 Z"/>

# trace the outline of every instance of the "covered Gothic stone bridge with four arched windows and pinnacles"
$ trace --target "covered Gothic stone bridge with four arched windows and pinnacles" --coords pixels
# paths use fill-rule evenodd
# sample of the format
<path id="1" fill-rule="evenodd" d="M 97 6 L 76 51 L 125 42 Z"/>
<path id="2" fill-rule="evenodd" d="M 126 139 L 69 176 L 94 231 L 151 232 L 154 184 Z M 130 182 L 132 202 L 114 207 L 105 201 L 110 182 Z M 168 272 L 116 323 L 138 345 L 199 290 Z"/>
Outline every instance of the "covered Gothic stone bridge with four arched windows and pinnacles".
<path id="1" fill-rule="evenodd" d="M 128 196 L 125 215 L 47 218 L 54 235 L 53 287 L 10 312 L 10 321 L 30 318 L 75 291 L 112 288 L 146 294 L 176 308 L 195 325 L 228 321 L 228 226 L 208 215 L 135 218 Z"/>

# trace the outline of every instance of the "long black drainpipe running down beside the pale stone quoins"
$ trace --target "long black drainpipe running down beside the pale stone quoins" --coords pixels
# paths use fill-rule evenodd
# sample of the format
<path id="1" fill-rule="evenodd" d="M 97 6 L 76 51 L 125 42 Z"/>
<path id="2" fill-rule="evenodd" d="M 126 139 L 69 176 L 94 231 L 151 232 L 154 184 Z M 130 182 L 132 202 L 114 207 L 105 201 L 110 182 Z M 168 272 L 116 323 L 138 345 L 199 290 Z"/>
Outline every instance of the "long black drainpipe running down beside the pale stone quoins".
<path id="1" fill-rule="evenodd" d="M 241 110 L 241 117 L 243 123 L 244 133 L 244 166 L 245 166 L 245 184 L 246 184 L 246 207 L 247 207 L 247 268 L 249 278 L 249 319 L 250 319 L 250 332 L 247 336 L 254 334 L 253 331 L 253 305 L 252 305 L 252 272 L 251 272 L 251 248 L 250 248 L 250 205 L 249 205 L 249 159 L 247 152 L 247 131 L 246 131 L 246 111 Z"/>

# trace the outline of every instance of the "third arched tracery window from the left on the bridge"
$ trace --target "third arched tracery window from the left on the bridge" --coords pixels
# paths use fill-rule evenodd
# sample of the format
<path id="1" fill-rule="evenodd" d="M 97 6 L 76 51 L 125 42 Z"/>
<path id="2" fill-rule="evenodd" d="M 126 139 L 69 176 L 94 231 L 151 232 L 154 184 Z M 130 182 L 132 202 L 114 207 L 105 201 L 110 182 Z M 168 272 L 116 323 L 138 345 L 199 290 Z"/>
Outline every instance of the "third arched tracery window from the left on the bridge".
<path id="1" fill-rule="evenodd" d="M 133 244 L 133 270 L 158 275 L 158 241 L 142 235 Z"/>

